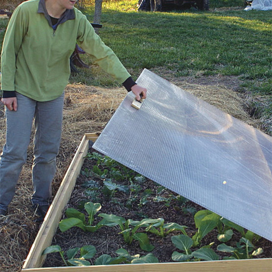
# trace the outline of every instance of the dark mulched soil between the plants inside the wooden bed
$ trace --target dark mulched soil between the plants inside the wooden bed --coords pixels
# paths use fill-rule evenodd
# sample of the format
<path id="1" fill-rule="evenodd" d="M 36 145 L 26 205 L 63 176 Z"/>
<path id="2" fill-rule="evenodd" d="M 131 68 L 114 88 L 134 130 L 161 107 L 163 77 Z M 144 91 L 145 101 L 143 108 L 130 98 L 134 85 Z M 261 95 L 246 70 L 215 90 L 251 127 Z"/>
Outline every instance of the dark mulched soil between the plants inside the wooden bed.
<path id="1" fill-rule="evenodd" d="M 89 153 L 92 152 L 97 151 L 90 148 Z M 85 159 L 82 170 L 93 169 L 94 165 L 94 160 Z M 103 180 L 101 178 L 96 176 L 87 177 L 86 174 L 82 172 L 77 178 L 74 191 L 66 208 L 73 207 L 80 210 L 78 207 L 82 200 L 84 200 L 84 202 L 94 202 L 94 199 L 86 197 L 84 193 L 86 190 L 84 183 L 90 179 L 97 181 L 99 186 L 103 186 Z M 123 182 L 114 182 L 120 185 L 129 185 L 129 181 L 127 180 Z M 148 201 L 144 205 L 141 205 L 140 201 L 141 197 L 143 196 L 143 192 L 148 189 L 151 190 L 152 195 L 148 197 Z M 96 199 L 102 206 L 99 213 L 114 214 L 117 216 L 122 216 L 124 219 L 133 219 L 137 221 L 141 221 L 144 218 L 163 218 L 165 223 L 178 223 L 186 226 L 187 234 L 192 237 L 197 231 L 194 222 L 194 214 L 199 210 L 203 210 L 204 208 L 192 201 L 189 201 L 188 199 L 186 199 L 186 201 L 179 201 L 178 198 L 173 198 L 173 196 L 176 197 L 177 195 L 167 189 L 164 189 L 162 193 L 158 194 L 158 189 L 160 189 L 159 184 L 156 184 L 151 180 L 146 180 L 144 183 L 141 183 L 141 192 L 135 198 L 133 198 L 134 201 L 131 203 L 131 205 L 128 205 L 127 200 L 132 199 L 133 195 L 129 196 L 127 193 L 117 191 L 114 197 L 108 199 L 105 194 L 99 193 L 98 199 Z M 172 200 L 169 203 L 163 201 L 156 202 L 153 199 L 156 195 L 163 198 L 172 198 Z M 83 208 L 80 211 L 83 213 L 85 212 Z M 85 215 L 87 217 L 86 212 Z M 65 213 L 63 213 L 63 219 L 64 218 L 66 218 Z M 98 223 L 100 220 L 101 218 L 96 215 L 94 224 Z M 137 241 L 133 241 L 131 245 L 124 243 L 123 235 L 119 234 L 119 231 L 119 227 L 102 227 L 94 233 L 84 232 L 77 227 L 73 227 L 64 233 L 58 229 L 53 237 L 52 245 L 59 245 L 64 251 L 74 247 L 93 245 L 96 247 L 97 253 L 91 260 L 92 264 L 94 264 L 94 260 L 102 254 L 109 254 L 111 257 L 117 257 L 118 255 L 115 252 L 121 247 L 125 248 L 130 255 L 140 254 L 141 256 L 144 256 L 149 253 L 142 250 Z M 179 234 L 182 233 L 175 231 L 164 238 L 159 238 L 155 234 L 148 233 L 150 244 L 154 246 L 151 253 L 159 259 L 159 262 L 173 262 L 171 258 L 172 253 L 173 251 L 179 250 L 173 245 L 171 237 Z M 214 243 L 211 248 L 220 256 L 220 259 L 223 259 L 224 256 L 230 256 L 230 254 L 217 250 L 217 246 L 221 244 L 221 242 L 216 238 L 217 235 L 218 231 L 217 229 L 214 229 L 204 237 L 199 247 Z M 226 244 L 228 246 L 235 247 L 236 242 L 239 242 L 241 238 L 241 234 L 234 230 L 232 239 L 229 242 L 226 242 Z M 255 242 L 254 245 L 256 248 L 262 247 L 264 250 L 264 252 L 258 256 L 258 258 L 272 257 L 272 242 L 261 238 L 258 242 Z M 193 251 L 198 248 L 193 248 Z M 59 253 L 48 254 L 43 267 L 56 266 L 63 266 L 63 261 L 61 260 Z"/>

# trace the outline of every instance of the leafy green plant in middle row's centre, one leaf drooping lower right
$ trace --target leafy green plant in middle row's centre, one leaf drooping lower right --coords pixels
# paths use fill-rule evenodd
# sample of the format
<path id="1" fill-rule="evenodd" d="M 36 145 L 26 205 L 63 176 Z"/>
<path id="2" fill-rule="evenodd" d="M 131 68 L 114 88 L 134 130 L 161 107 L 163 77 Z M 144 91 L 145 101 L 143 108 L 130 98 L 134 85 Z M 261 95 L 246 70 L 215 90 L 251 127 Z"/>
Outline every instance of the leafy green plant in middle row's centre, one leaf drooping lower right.
<path id="1" fill-rule="evenodd" d="M 131 244 L 133 240 L 137 240 L 139 242 L 140 247 L 145 251 L 151 251 L 153 250 L 154 246 L 150 245 L 148 235 L 143 232 L 136 231 L 141 226 L 146 226 L 147 224 L 151 223 L 157 223 L 159 222 L 159 219 L 143 219 L 140 222 L 139 221 L 133 221 L 131 219 L 125 220 L 121 216 L 116 216 L 113 214 L 99 214 L 100 217 L 106 220 L 106 222 L 109 223 L 115 223 L 120 227 L 120 234 L 123 234 L 124 242 L 127 244 Z M 130 225 L 133 225 L 134 227 L 129 227 Z"/>

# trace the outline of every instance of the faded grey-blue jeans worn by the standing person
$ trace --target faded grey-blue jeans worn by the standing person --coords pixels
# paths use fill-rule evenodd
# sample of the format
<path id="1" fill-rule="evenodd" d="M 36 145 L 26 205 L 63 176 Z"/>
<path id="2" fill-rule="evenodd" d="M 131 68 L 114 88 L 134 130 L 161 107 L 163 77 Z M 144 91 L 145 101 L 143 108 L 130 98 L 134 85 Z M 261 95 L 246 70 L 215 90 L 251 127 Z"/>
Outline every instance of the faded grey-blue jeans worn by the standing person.
<path id="1" fill-rule="evenodd" d="M 51 182 L 56 172 L 61 130 L 64 93 L 45 102 L 35 101 L 16 93 L 18 109 L 5 107 L 6 143 L 0 155 L 0 209 L 7 209 L 16 183 L 26 161 L 27 148 L 35 119 L 32 203 L 49 204 Z"/>

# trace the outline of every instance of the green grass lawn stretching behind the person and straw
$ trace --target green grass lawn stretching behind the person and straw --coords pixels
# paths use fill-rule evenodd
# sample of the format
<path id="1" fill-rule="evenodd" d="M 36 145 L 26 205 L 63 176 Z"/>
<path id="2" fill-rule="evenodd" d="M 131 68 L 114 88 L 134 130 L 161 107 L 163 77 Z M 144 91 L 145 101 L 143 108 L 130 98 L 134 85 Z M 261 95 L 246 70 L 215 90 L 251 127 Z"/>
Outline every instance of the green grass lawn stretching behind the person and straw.
<path id="1" fill-rule="evenodd" d="M 226 8 L 235 6 L 235 8 Z M 258 99 L 258 115 L 272 116 L 272 16 L 244 11 L 243 0 L 210 0 L 210 11 L 137 12 L 137 0 L 103 3 L 99 35 L 133 78 L 144 68 L 162 68 L 175 76 L 235 75 L 241 89 Z M 82 10 L 93 22 L 94 6 Z M 7 20 L 0 21 L 0 43 Z M 82 59 L 92 64 L 89 56 Z M 113 86 L 99 67 L 80 69 L 71 82 Z M 257 114 L 257 113 L 256 113 Z M 267 121 L 267 122 L 271 122 Z"/>

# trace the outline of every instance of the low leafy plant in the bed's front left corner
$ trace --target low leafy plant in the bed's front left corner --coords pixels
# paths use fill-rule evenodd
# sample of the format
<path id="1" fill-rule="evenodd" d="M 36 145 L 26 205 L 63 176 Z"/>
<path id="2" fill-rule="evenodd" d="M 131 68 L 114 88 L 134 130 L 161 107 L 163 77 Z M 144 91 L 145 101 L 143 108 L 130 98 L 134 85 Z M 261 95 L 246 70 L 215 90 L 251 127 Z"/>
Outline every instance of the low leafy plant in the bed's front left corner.
<path id="1" fill-rule="evenodd" d="M 78 250 L 80 250 L 79 258 L 75 258 Z M 59 252 L 64 264 L 66 266 L 89 266 L 91 263 L 86 259 L 91 259 L 95 256 L 97 250 L 94 246 L 84 246 L 84 247 L 75 247 L 64 252 L 60 246 L 54 245 L 47 247 L 42 255 L 46 255 L 49 253 Z M 67 256 L 67 260 L 65 260 L 65 255 Z"/>

